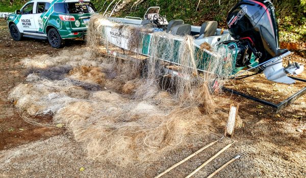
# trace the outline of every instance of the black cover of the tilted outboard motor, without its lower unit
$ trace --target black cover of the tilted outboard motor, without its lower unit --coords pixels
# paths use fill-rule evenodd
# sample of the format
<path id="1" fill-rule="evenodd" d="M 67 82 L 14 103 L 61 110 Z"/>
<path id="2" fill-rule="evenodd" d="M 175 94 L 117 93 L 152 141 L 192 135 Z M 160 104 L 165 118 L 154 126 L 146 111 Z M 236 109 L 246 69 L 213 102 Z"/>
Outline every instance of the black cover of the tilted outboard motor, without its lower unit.
<path id="1" fill-rule="evenodd" d="M 262 53 L 260 63 L 279 54 L 278 28 L 270 1 L 242 0 L 228 13 L 226 22 L 234 39 L 247 39 Z"/>

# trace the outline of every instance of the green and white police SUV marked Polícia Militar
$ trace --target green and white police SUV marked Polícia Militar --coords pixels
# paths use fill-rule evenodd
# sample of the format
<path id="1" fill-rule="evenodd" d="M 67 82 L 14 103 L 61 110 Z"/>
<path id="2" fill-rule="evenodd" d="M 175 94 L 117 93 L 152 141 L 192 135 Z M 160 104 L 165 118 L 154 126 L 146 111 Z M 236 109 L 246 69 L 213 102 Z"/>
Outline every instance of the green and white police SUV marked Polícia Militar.
<path id="1" fill-rule="evenodd" d="M 6 18 L 14 40 L 48 39 L 59 48 L 64 39 L 83 38 L 96 12 L 89 0 L 32 0 Z"/>

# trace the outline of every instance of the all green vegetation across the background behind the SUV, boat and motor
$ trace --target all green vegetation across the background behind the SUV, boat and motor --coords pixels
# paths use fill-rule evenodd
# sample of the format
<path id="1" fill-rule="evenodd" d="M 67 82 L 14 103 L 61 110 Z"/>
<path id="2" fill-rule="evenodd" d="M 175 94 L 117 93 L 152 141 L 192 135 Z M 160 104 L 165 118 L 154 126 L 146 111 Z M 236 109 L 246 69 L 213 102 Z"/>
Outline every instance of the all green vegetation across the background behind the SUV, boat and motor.
<path id="1" fill-rule="evenodd" d="M 281 41 L 306 41 L 306 0 L 272 0 L 278 19 L 279 36 Z M 20 9 L 26 0 L 0 0 L 0 12 L 14 12 Z M 111 0 L 92 0 L 96 9 L 103 12 Z M 106 2 L 106 3 L 105 3 Z M 227 27 L 225 19 L 227 12 L 239 0 L 144 0 L 137 9 L 131 9 L 133 0 L 123 11 L 116 16 L 142 17 L 150 6 L 160 6 L 161 14 L 168 19 L 183 19 L 186 23 L 201 25 L 208 20 L 218 21 L 219 27 Z"/>

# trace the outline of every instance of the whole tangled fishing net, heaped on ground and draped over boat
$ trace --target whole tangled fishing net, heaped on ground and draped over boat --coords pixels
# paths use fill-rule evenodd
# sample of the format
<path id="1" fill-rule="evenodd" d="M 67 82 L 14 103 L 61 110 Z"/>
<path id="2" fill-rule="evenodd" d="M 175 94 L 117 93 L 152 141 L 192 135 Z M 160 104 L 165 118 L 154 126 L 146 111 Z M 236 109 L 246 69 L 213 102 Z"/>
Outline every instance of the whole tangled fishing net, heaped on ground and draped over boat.
<path id="1" fill-rule="evenodd" d="M 108 40 L 108 26 L 115 41 Z M 227 114 L 215 112 L 211 93 L 231 73 L 231 55 L 212 47 L 203 62 L 198 56 L 208 50 L 193 40 L 96 15 L 87 49 L 25 58 L 27 78 L 9 99 L 29 115 L 53 114 L 54 123 L 64 124 L 91 159 L 121 166 L 157 161 L 226 124 Z M 150 48 L 143 57 L 145 43 Z M 138 60 L 123 60 L 114 51 Z"/>

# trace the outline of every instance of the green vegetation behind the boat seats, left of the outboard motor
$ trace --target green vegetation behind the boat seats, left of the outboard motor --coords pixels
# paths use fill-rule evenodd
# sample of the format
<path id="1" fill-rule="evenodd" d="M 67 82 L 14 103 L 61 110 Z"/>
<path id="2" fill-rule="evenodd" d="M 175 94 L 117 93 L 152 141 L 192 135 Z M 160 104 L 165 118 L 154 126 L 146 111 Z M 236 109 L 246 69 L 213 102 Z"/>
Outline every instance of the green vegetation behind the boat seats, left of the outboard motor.
<path id="1" fill-rule="evenodd" d="M 146 9 L 150 6 L 160 6 L 161 14 L 168 19 L 184 19 L 186 23 L 201 25 L 208 20 L 218 21 L 220 26 L 225 27 L 225 20 L 227 12 L 237 4 L 239 0 L 221 0 L 220 5 L 216 0 L 202 0 L 199 4 L 198 10 L 195 12 L 198 0 L 180 1 L 180 0 L 147 0 L 135 8 L 127 7 L 125 13 L 130 16 L 142 17 Z M 133 3 L 131 3 L 132 5 Z M 124 15 L 123 15 L 124 14 Z"/>

